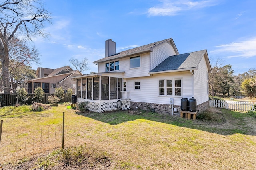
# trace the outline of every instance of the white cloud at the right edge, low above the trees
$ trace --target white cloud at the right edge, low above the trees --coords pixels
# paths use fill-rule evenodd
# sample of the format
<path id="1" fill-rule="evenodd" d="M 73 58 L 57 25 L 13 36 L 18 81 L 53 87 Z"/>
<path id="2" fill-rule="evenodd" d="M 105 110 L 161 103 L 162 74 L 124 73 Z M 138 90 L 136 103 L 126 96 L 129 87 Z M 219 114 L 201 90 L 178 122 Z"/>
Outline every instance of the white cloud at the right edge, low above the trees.
<path id="1" fill-rule="evenodd" d="M 229 43 L 216 46 L 219 49 L 210 53 L 228 53 L 227 57 L 254 57 L 256 56 L 256 37 L 238 43 Z"/>

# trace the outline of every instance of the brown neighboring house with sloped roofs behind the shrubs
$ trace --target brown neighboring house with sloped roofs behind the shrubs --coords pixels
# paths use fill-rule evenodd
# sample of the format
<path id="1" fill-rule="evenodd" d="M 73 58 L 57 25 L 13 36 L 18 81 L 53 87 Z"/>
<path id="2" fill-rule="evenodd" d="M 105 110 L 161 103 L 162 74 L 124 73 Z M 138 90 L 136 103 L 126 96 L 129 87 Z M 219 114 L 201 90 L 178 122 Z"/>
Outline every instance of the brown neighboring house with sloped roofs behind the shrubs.
<path id="1" fill-rule="evenodd" d="M 71 77 L 81 75 L 83 74 L 80 71 L 73 70 L 70 66 L 64 66 L 57 69 L 38 67 L 36 70 L 36 78 L 27 81 L 27 92 L 28 94 L 31 94 L 34 92 L 35 88 L 41 87 L 45 93 L 52 94 L 55 92 L 55 88 L 58 87 L 58 84 L 64 82 L 69 84 L 70 87 L 75 87 L 76 80 L 72 80 Z"/>

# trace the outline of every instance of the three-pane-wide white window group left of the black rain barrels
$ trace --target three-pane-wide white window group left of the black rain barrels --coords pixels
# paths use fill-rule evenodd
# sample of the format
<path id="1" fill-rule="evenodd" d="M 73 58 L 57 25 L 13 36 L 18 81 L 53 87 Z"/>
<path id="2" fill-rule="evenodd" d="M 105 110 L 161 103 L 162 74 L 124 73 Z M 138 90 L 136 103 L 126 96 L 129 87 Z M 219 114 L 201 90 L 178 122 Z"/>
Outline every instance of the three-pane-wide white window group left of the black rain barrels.
<path id="1" fill-rule="evenodd" d="M 182 96 L 182 80 L 166 79 L 158 80 L 159 96 Z"/>

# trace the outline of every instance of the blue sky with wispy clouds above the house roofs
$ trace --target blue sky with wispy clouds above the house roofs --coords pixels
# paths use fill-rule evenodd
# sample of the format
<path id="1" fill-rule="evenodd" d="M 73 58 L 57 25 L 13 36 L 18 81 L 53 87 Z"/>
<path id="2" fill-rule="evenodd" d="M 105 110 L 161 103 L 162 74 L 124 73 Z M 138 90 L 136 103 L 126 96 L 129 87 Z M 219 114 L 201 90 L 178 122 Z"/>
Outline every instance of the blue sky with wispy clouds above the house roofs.
<path id="1" fill-rule="evenodd" d="M 232 65 L 235 74 L 256 68 L 256 0 L 44 0 L 52 13 L 37 67 L 59 68 L 68 60 L 105 56 L 105 41 L 116 52 L 173 38 L 180 54 L 207 49 L 211 64 Z"/>

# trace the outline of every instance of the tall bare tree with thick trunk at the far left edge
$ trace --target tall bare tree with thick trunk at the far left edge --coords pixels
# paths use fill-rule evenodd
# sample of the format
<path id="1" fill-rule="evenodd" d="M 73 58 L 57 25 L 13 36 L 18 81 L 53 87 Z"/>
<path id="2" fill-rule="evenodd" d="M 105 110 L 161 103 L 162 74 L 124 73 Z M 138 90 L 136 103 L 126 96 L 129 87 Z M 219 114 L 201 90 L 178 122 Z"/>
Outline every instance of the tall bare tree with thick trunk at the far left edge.
<path id="1" fill-rule="evenodd" d="M 50 23 L 50 13 L 40 0 L 0 0 L 0 61 L 4 93 L 10 94 L 9 42 L 14 36 L 32 39 L 45 37 L 44 24 Z"/>

